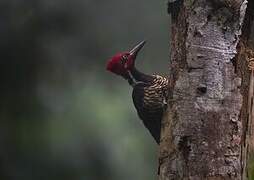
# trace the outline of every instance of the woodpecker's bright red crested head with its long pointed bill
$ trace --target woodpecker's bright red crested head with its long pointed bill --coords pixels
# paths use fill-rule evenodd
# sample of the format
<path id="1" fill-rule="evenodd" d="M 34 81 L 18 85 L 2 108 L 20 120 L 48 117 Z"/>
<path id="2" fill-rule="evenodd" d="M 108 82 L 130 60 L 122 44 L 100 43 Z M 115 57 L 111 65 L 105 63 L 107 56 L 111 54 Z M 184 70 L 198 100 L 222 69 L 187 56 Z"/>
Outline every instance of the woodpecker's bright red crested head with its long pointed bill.
<path id="1" fill-rule="evenodd" d="M 107 63 L 107 70 L 127 78 L 128 71 L 135 67 L 136 57 L 145 43 L 142 41 L 129 52 L 122 52 L 113 56 Z"/>

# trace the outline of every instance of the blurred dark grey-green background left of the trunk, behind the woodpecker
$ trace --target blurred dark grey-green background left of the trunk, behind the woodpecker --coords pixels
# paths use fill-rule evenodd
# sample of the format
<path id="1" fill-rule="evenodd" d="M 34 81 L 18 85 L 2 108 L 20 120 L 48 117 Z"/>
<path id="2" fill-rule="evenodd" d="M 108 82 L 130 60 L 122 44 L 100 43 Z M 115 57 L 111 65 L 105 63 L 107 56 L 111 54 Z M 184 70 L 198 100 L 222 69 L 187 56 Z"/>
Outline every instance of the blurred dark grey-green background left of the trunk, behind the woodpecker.
<path id="1" fill-rule="evenodd" d="M 131 87 L 105 64 L 146 39 L 137 67 L 167 74 L 166 8 L 156 0 L 1 0 L 1 180 L 157 178 L 157 145 Z"/>

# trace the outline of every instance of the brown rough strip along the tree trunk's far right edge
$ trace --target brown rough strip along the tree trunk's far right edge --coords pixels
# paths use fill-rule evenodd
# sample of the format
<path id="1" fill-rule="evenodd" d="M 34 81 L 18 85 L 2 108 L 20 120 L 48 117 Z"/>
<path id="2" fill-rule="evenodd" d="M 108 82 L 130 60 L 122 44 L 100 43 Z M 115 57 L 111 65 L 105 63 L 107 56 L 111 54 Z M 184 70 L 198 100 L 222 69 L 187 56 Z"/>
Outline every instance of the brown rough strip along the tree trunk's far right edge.
<path id="1" fill-rule="evenodd" d="M 242 135 L 242 179 L 254 179 L 254 1 L 248 2 L 242 36 L 238 45 L 236 70 L 242 77 L 241 109 Z"/>

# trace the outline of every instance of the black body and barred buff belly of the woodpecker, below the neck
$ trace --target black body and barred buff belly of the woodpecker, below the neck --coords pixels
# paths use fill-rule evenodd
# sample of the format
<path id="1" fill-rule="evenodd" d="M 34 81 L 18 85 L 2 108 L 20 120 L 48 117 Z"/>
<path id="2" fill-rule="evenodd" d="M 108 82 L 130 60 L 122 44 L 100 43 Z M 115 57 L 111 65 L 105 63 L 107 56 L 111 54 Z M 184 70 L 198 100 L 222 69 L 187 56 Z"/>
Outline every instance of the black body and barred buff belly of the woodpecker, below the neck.
<path id="1" fill-rule="evenodd" d="M 167 94 L 166 78 L 153 76 L 152 81 L 137 83 L 132 98 L 140 119 L 157 143 L 160 142 L 160 129 Z"/>

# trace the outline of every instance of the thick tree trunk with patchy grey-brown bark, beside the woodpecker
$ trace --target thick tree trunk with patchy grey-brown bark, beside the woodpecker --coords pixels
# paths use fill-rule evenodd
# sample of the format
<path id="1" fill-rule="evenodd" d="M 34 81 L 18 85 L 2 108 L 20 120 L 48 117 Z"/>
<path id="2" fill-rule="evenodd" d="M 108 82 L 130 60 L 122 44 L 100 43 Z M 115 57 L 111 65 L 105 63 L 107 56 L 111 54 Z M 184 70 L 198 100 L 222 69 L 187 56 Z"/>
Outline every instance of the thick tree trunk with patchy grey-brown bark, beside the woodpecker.
<path id="1" fill-rule="evenodd" d="M 247 0 L 169 4 L 174 11 L 161 180 L 251 180 L 253 4 L 246 18 Z"/>

